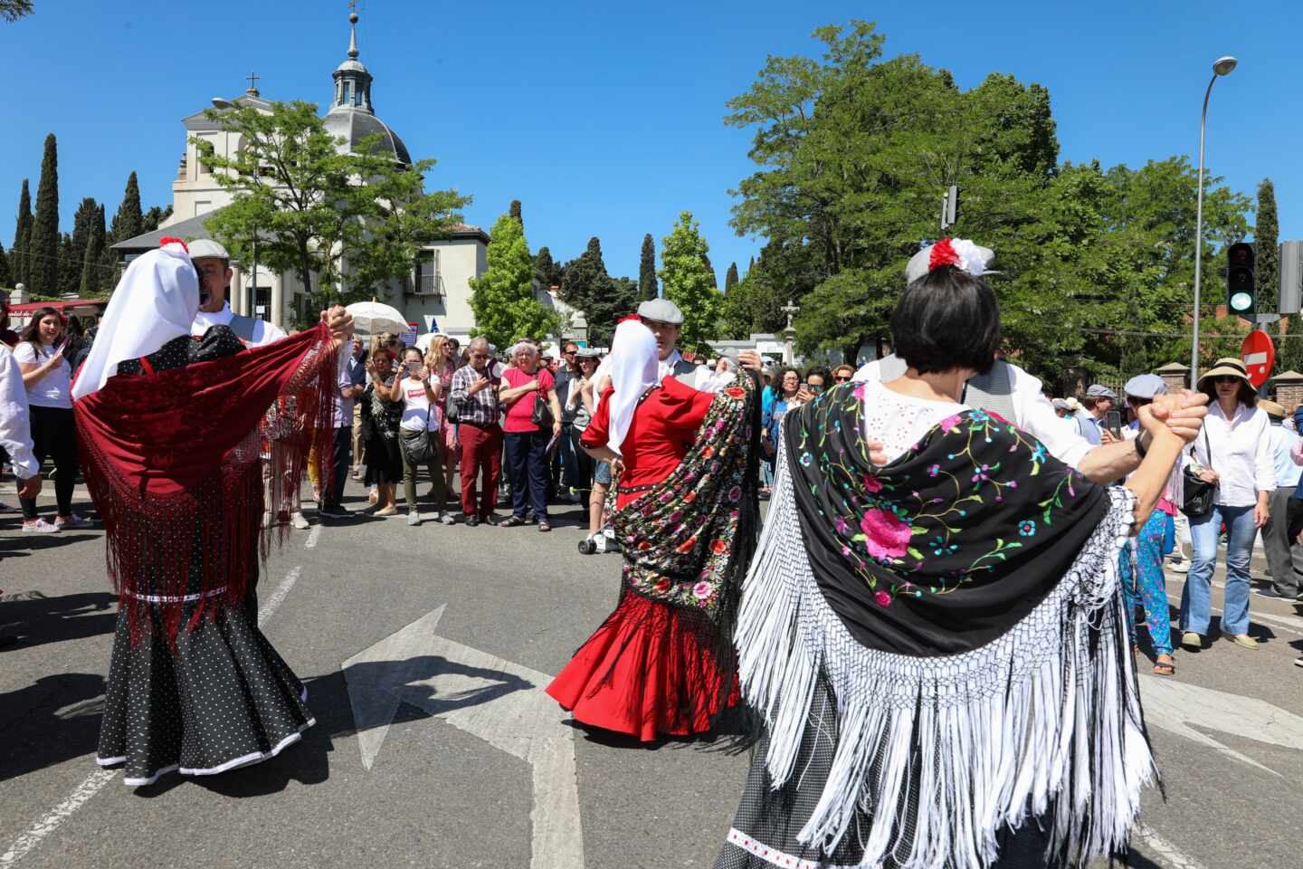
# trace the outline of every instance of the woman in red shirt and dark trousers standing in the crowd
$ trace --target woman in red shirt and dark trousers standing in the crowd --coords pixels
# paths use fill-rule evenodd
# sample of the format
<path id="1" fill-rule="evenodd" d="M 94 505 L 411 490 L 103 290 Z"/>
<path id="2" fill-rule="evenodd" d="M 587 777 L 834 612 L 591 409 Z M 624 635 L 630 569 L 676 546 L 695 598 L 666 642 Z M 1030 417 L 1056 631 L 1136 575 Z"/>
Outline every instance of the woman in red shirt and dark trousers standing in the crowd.
<path id="1" fill-rule="evenodd" d="M 539 365 L 538 348 L 521 341 L 511 348 L 515 367 L 502 374 L 498 397 L 507 405 L 502 422 L 506 434 L 507 465 L 511 468 L 511 516 L 503 528 L 524 525 L 526 492 L 528 503 L 538 517 L 538 530 L 552 530 L 547 521 L 547 444 L 560 436 L 562 405 L 556 400 L 556 380 L 546 366 Z M 534 399 L 542 397 L 552 414 L 550 426 L 533 421 Z"/>

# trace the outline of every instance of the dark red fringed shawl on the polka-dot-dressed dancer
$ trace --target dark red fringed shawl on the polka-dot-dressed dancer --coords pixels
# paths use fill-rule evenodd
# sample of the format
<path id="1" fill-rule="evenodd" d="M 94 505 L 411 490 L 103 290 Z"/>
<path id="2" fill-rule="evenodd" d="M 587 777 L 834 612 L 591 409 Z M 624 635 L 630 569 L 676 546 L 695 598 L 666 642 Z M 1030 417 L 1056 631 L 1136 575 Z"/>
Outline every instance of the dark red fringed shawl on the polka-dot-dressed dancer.
<path id="1" fill-rule="evenodd" d="M 271 541 L 262 529 L 259 423 L 278 399 L 297 412 L 271 451 L 267 496 L 279 504 L 314 446 L 331 466 L 337 358 L 318 326 L 208 362 L 112 377 L 73 405 L 133 641 L 152 631 L 150 605 L 175 644 L 186 606 L 194 603 L 193 627 L 205 612 L 244 602 Z"/>

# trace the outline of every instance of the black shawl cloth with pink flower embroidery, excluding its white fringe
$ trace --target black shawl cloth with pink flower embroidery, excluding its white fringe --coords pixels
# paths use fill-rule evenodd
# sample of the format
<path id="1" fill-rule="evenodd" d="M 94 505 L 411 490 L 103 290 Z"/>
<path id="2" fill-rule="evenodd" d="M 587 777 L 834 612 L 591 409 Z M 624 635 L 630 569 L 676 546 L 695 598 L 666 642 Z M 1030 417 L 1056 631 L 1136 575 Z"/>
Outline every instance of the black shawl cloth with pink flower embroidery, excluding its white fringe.
<path id="1" fill-rule="evenodd" d="M 870 649 L 937 655 L 989 642 L 1063 577 L 1108 509 L 1105 490 L 984 410 L 943 420 L 876 466 L 861 393 L 838 386 L 783 421 L 821 591 Z"/>

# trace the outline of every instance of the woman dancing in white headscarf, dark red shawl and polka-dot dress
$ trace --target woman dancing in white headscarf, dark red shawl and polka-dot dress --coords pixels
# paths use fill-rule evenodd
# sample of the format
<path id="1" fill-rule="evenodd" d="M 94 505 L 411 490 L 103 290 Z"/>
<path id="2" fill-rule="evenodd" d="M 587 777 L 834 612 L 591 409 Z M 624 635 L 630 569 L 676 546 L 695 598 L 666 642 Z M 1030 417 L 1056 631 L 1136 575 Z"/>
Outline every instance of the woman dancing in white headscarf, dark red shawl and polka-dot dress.
<path id="1" fill-rule="evenodd" d="M 128 267 L 73 386 L 86 483 L 119 589 L 100 765 L 124 782 L 257 763 L 313 724 L 298 677 L 258 629 L 263 479 L 258 423 L 292 399 L 302 427 L 272 469 L 297 486 L 334 442 L 336 348 L 352 318 L 244 350 L 225 326 L 195 341 L 199 283 L 180 241 Z M 318 384 L 326 384 L 319 388 Z M 287 473 L 288 472 L 288 473 Z"/>

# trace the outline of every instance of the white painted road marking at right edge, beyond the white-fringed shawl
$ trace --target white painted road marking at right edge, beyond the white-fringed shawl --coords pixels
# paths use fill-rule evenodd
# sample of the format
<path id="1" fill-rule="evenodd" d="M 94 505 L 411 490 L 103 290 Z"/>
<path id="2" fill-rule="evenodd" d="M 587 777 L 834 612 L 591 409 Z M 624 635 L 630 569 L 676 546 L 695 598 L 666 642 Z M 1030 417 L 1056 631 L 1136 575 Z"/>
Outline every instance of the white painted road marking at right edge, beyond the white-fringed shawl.
<path id="1" fill-rule="evenodd" d="M 1234 734 L 1268 745 L 1303 752 L 1303 718 L 1265 700 L 1157 676 L 1140 676 L 1140 693 L 1144 697 L 1145 724 L 1161 727 L 1200 745 L 1217 749 L 1270 775 L 1280 776 L 1280 773 L 1222 745 L 1203 731 Z"/>

